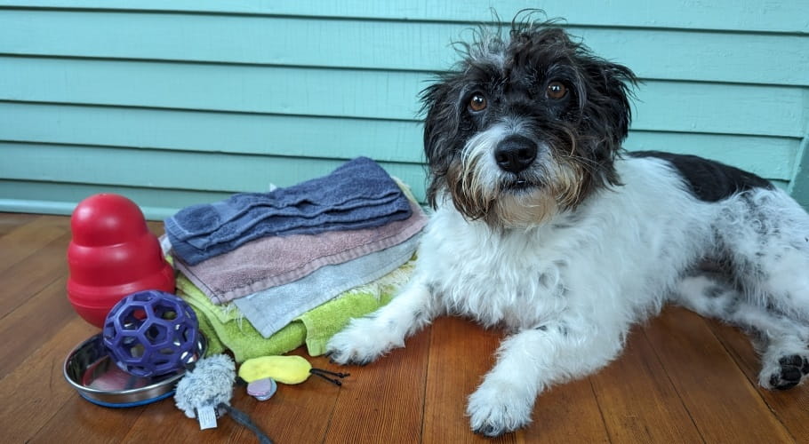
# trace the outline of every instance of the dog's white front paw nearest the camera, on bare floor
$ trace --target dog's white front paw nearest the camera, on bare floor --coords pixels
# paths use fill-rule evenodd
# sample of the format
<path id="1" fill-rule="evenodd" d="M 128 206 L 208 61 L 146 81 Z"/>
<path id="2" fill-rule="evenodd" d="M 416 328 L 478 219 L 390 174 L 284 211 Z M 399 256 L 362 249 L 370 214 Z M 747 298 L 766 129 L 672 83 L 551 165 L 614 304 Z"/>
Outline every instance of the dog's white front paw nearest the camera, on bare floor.
<path id="1" fill-rule="evenodd" d="M 485 380 L 469 396 L 467 415 L 472 431 L 500 436 L 531 422 L 534 394 L 508 381 Z"/>

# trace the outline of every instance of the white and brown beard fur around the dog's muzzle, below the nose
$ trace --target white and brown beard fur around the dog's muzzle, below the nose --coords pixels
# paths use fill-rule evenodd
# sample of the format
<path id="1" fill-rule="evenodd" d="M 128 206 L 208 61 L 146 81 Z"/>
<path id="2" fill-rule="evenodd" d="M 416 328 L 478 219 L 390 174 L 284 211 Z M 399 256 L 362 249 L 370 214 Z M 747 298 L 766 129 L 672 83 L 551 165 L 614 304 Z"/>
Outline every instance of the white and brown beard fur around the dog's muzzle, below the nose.
<path id="1" fill-rule="evenodd" d="M 558 159 L 547 147 L 529 170 L 502 171 L 493 162 L 501 136 L 485 131 L 470 139 L 447 170 L 448 192 L 464 217 L 493 228 L 527 228 L 581 202 L 583 165 L 573 157 Z"/>

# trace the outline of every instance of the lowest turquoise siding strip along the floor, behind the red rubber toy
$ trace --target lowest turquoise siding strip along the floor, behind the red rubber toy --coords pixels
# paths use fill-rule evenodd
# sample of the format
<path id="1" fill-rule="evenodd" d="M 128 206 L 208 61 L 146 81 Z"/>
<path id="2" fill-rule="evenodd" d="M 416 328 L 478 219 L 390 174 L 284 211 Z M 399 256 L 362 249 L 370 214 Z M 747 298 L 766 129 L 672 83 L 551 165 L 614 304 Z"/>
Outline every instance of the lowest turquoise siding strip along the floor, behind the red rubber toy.
<path id="1" fill-rule="evenodd" d="M 129 186 L 87 185 L 0 179 L 0 211 L 70 214 L 76 203 L 97 193 L 122 194 L 132 199 L 152 220 L 172 216 L 180 208 L 226 199 L 228 193 Z"/>

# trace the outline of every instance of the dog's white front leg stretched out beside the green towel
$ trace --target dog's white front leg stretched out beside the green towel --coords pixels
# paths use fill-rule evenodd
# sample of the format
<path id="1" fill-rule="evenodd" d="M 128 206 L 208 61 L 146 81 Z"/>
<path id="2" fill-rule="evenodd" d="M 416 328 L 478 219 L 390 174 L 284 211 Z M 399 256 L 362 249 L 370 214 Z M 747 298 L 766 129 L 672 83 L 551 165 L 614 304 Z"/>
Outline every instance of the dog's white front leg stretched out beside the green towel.
<path id="1" fill-rule="evenodd" d="M 339 364 L 367 364 L 393 348 L 404 346 L 404 338 L 435 315 L 429 286 L 416 277 L 388 305 L 352 320 L 334 335 L 326 345 L 326 353 Z"/>

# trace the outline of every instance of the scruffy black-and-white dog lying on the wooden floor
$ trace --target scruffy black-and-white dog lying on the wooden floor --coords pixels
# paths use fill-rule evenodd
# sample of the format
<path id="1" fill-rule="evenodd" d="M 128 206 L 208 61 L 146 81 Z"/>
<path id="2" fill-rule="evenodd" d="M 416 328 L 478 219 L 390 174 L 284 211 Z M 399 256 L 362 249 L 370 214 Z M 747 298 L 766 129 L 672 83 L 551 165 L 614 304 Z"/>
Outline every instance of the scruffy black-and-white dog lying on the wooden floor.
<path id="1" fill-rule="evenodd" d="M 478 36 L 423 91 L 428 199 L 413 280 L 332 338 L 371 362 L 437 315 L 511 333 L 469 397 L 485 435 L 530 421 L 549 385 L 613 360 L 673 302 L 749 331 L 759 384 L 809 373 L 809 216 L 763 178 L 691 155 L 624 152 L 627 67 L 561 28 Z M 729 149 L 733 149 L 729 147 Z"/>

